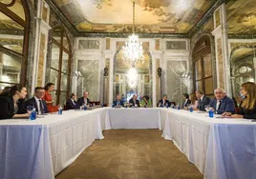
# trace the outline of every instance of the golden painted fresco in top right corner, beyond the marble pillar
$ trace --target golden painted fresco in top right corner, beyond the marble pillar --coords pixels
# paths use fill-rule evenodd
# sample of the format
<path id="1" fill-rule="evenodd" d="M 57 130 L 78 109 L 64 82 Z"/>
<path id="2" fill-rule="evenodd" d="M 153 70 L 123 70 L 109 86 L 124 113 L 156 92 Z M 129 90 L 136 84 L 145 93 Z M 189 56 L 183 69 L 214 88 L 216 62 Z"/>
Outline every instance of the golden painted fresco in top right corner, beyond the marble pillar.
<path id="1" fill-rule="evenodd" d="M 226 14 L 228 33 L 256 35 L 256 0 L 230 0 Z"/>

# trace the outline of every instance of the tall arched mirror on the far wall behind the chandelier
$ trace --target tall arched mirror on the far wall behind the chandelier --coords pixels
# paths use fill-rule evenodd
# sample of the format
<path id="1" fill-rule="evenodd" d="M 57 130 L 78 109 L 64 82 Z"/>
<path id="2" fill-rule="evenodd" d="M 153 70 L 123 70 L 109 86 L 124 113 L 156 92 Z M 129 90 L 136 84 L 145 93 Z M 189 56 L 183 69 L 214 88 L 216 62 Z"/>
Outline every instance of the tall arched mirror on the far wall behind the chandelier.
<path id="1" fill-rule="evenodd" d="M 145 49 L 145 48 L 144 48 Z M 113 96 L 114 100 L 117 94 L 122 96 L 122 100 L 129 101 L 134 93 L 139 95 L 139 100 L 143 95 L 148 95 L 152 99 L 152 57 L 148 50 L 144 50 L 144 63 L 138 63 L 138 83 L 136 87 L 131 88 L 128 84 L 128 70 L 131 65 L 123 60 L 123 51 L 121 47 L 117 50 L 114 57 L 114 76 L 113 76 Z"/>

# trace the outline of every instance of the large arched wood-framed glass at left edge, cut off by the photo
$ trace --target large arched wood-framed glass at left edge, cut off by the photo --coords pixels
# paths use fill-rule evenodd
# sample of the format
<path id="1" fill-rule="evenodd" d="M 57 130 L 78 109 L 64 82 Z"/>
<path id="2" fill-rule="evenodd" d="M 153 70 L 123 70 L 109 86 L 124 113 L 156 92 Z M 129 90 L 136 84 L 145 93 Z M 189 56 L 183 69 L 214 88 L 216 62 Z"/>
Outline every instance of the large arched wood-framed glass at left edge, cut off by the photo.
<path id="1" fill-rule="evenodd" d="M 29 29 L 25 0 L 0 1 L 0 89 L 26 84 Z"/>

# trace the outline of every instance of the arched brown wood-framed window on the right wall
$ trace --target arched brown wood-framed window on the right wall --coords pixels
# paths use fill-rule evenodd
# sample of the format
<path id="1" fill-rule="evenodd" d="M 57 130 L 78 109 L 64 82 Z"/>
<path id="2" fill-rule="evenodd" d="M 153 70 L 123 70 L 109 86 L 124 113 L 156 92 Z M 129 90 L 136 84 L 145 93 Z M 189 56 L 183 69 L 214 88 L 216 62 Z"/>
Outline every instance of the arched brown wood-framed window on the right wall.
<path id="1" fill-rule="evenodd" d="M 203 90 L 206 95 L 214 94 L 212 55 L 210 39 L 203 36 L 193 51 L 194 89 Z"/>

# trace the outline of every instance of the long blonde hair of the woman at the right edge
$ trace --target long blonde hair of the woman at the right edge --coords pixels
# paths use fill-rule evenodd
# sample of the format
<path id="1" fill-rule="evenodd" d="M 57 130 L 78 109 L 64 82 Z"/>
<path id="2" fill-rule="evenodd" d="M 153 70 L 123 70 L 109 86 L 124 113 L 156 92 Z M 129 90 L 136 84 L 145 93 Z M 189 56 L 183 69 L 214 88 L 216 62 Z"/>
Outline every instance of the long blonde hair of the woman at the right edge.
<path id="1" fill-rule="evenodd" d="M 253 109 L 256 104 L 256 85 L 252 82 L 246 82 L 241 85 L 247 92 L 246 98 L 243 100 L 241 105 L 244 109 Z"/>

